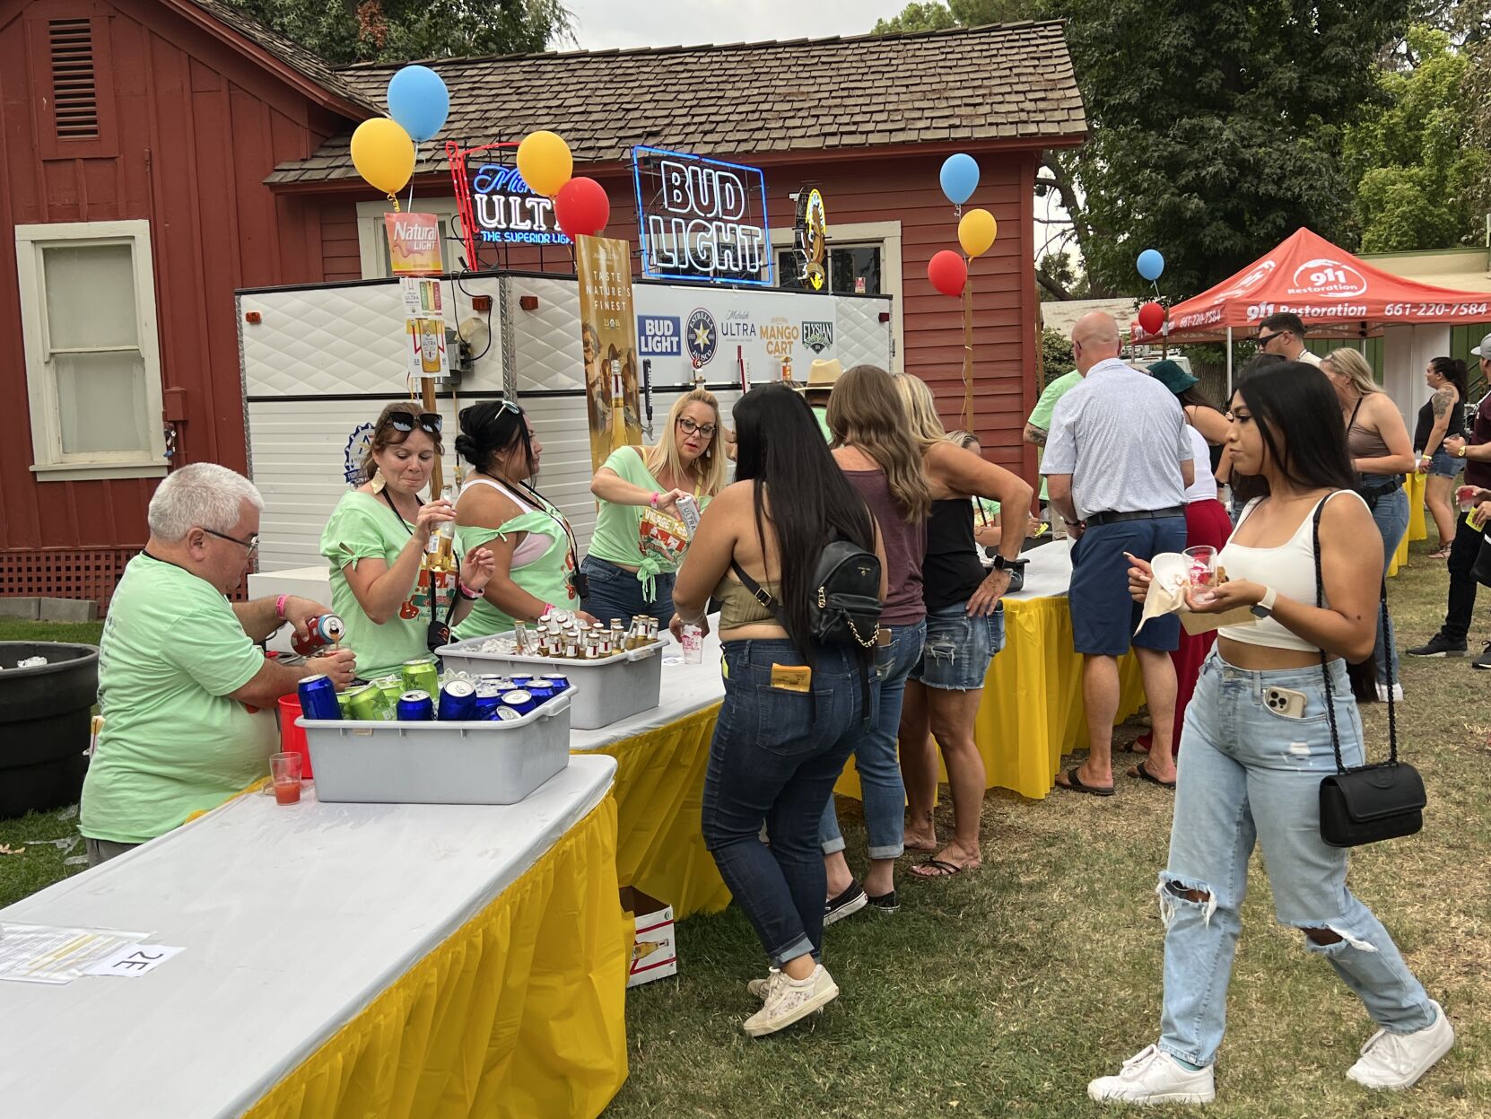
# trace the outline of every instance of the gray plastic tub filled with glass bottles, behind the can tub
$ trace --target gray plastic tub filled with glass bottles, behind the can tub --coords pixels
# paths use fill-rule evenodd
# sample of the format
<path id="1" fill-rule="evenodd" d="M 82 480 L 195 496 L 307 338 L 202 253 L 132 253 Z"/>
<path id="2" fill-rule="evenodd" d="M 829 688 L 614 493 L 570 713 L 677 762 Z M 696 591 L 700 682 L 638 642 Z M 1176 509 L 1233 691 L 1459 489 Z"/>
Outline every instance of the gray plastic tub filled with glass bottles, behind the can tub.
<path id="1" fill-rule="evenodd" d="M 492 637 L 511 636 L 499 633 Z M 446 668 L 471 676 L 564 673 L 573 685 L 574 706 L 570 710 L 570 725 L 576 730 L 593 731 L 638 712 L 652 710 L 662 695 L 662 651 L 668 645 L 666 639 L 643 649 L 623 649 L 601 661 L 571 661 L 562 656 L 499 656 L 479 652 L 492 637 L 473 637 L 470 642 L 446 645 L 435 649 L 435 653 Z M 316 770 L 316 776 L 321 776 L 321 770 Z"/>

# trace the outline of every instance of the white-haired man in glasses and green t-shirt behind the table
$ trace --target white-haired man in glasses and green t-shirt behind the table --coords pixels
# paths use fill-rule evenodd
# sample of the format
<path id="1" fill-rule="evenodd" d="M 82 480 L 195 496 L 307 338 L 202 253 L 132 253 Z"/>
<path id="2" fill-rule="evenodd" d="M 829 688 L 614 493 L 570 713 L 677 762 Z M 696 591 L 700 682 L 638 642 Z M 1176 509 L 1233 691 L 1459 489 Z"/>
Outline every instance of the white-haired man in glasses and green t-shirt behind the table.
<path id="1" fill-rule="evenodd" d="M 230 603 L 258 551 L 264 498 L 242 474 L 197 463 L 151 498 L 151 540 L 124 568 L 98 649 L 104 725 L 79 828 L 97 865 L 268 776 L 274 706 L 307 676 L 344 688 L 350 649 L 289 667 L 259 642 L 327 607 L 294 595 Z"/>

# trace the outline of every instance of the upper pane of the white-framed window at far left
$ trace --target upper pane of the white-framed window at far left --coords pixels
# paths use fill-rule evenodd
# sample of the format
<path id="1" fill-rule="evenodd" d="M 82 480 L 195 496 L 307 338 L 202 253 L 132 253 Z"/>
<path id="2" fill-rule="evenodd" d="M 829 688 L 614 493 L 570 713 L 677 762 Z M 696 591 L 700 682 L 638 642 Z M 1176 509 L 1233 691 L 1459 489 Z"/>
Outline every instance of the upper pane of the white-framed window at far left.
<path id="1" fill-rule="evenodd" d="M 43 248 L 42 276 L 51 349 L 139 345 L 131 245 Z"/>

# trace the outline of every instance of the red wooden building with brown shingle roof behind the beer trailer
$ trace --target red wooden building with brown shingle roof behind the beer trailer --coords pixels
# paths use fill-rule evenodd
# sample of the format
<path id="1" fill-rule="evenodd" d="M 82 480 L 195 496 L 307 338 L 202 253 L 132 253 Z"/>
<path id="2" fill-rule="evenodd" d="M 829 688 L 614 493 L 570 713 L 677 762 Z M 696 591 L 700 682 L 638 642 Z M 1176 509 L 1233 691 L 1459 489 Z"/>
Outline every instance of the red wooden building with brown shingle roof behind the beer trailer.
<path id="1" fill-rule="evenodd" d="M 780 251 L 790 192 L 819 186 L 830 285 L 896 297 L 898 367 L 950 421 L 960 309 L 926 263 L 957 243 L 938 167 L 975 155 L 969 204 L 1000 230 L 972 269 L 977 428 L 1033 470 L 1032 188 L 1039 152 L 1085 131 L 1060 24 L 434 66 L 441 140 L 553 128 L 607 186 L 610 236 L 637 239 L 634 143 L 762 167 Z M 0 595 L 106 601 L 168 468 L 245 468 L 233 292 L 386 275 L 385 204 L 347 139 L 394 69 L 331 69 L 219 0 L 0 0 L 0 398 L 28 418 L 0 440 Z M 435 146 L 416 209 L 453 215 Z M 573 272 L 553 249 L 543 267 Z"/>

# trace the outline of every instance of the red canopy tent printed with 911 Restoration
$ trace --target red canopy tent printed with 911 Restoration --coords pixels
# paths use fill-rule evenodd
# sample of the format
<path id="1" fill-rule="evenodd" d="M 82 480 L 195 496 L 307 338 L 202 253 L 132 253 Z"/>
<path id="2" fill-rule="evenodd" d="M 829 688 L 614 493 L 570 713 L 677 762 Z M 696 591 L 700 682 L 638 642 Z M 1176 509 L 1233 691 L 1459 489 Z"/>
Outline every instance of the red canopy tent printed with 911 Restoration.
<path id="1" fill-rule="evenodd" d="M 1491 297 L 1394 276 L 1306 228 L 1209 291 L 1170 307 L 1170 342 L 1227 342 L 1246 336 L 1269 315 L 1299 315 L 1311 337 L 1361 339 L 1384 324 L 1469 324 L 1491 318 Z M 1133 340 L 1157 340 L 1133 324 Z"/>

